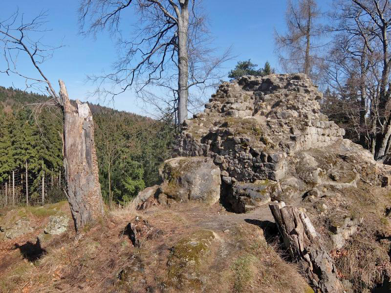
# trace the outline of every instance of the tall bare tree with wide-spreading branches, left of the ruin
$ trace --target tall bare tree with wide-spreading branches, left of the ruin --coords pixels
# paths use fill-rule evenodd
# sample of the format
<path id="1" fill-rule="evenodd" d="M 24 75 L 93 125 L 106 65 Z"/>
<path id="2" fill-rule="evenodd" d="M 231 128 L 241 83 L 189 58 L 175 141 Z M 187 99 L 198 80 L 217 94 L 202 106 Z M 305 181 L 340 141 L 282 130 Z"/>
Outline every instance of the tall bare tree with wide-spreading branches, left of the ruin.
<path id="1" fill-rule="evenodd" d="M 133 7 L 139 21 L 132 32 L 121 29 L 122 14 Z M 97 91 L 114 97 L 134 87 L 138 97 L 163 111 L 169 107 L 182 123 L 188 116 L 189 88 L 201 91 L 223 76 L 219 67 L 230 58 L 229 50 L 213 57 L 211 38 L 199 1 L 190 0 L 82 0 L 80 23 L 84 34 L 108 29 L 118 38 L 119 59 L 113 72 L 92 76 Z M 129 36 L 131 33 L 131 36 Z M 106 89 L 105 82 L 113 87 Z M 168 90 L 163 105 L 153 94 L 156 87 Z M 116 90 L 117 88 L 119 90 Z M 196 105 L 195 105 L 196 106 Z"/>

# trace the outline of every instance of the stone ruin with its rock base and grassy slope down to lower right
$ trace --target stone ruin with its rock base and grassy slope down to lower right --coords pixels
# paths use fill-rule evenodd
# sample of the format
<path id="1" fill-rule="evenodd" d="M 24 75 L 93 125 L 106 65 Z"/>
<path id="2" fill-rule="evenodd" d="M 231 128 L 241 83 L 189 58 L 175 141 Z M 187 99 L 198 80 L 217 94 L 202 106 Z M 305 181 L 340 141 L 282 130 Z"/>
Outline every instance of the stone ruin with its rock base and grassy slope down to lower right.
<path id="1" fill-rule="evenodd" d="M 345 130 L 320 113 L 321 99 L 303 74 L 223 83 L 184 121 L 175 154 L 214 161 L 228 210 L 283 201 L 305 211 L 346 290 L 364 292 L 391 276 L 391 167 L 343 139 Z"/>

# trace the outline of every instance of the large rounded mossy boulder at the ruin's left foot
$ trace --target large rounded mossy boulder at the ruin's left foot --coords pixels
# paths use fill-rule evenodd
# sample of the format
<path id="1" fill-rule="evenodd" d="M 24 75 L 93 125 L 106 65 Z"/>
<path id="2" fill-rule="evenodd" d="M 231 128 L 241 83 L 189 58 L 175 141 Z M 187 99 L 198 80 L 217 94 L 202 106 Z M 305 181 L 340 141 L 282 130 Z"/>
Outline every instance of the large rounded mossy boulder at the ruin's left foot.
<path id="1" fill-rule="evenodd" d="M 211 158 L 178 157 L 165 161 L 159 171 L 161 191 L 169 199 L 214 204 L 220 198 L 220 168 Z"/>

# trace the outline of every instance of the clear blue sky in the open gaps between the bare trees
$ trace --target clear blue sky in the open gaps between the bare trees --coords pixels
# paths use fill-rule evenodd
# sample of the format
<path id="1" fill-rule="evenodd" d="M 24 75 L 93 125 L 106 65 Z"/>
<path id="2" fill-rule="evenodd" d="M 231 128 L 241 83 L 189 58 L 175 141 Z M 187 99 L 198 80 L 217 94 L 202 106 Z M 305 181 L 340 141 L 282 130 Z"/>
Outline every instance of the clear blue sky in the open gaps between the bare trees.
<path id="1" fill-rule="evenodd" d="M 319 1 L 322 10 L 327 9 L 326 2 L 328 1 Z M 47 10 L 46 27 L 51 31 L 45 33 L 43 42 L 51 45 L 62 43 L 65 46 L 43 64 L 43 71 L 53 84 L 57 85 L 59 78 L 64 80 L 70 98 L 84 101 L 86 93 L 93 89 L 92 84 L 85 83 L 86 75 L 99 74 L 102 70 L 109 72 L 110 64 L 116 60 L 117 55 L 108 33 L 99 34 L 96 40 L 78 34 L 78 5 L 79 0 L 3 1 L 0 19 L 7 18 L 18 7 L 26 19 Z M 285 5 L 285 0 L 204 0 L 203 6 L 209 16 L 215 46 L 220 51 L 232 46 L 233 55 L 237 56 L 235 60 L 225 63 L 227 72 L 239 60 L 247 59 L 259 65 L 269 61 L 272 67 L 279 70 L 273 34 L 274 29 L 279 32 L 285 29 Z M 31 64 L 27 61 L 21 62 L 19 68 L 26 74 L 32 72 Z M 0 85 L 23 88 L 24 81 L 15 76 L 0 74 Z M 128 91 L 117 97 L 114 105 L 109 106 L 146 114 L 143 104 L 134 97 L 134 93 Z M 88 101 L 97 103 L 93 97 Z"/>

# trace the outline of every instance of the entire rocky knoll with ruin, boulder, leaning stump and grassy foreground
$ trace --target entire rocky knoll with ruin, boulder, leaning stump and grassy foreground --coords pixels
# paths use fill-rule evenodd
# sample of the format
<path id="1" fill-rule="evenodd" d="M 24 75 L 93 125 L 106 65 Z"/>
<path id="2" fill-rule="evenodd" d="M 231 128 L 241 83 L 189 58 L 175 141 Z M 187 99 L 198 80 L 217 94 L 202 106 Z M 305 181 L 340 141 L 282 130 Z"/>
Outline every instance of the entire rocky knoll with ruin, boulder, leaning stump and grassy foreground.
<path id="1" fill-rule="evenodd" d="M 181 126 L 161 185 L 8 264 L 0 289 L 390 292 L 391 167 L 343 139 L 321 98 L 301 74 L 221 84 Z"/>

